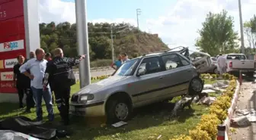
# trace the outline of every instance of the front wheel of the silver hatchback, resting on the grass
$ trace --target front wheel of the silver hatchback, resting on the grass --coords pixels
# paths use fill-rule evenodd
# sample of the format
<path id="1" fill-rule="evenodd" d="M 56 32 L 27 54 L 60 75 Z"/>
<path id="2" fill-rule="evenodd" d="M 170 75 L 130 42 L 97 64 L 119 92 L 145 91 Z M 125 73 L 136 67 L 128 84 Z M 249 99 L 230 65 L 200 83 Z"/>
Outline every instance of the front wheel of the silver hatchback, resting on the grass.
<path id="1" fill-rule="evenodd" d="M 113 124 L 119 121 L 130 119 L 132 114 L 132 105 L 125 98 L 112 98 L 107 101 L 107 123 Z"/>

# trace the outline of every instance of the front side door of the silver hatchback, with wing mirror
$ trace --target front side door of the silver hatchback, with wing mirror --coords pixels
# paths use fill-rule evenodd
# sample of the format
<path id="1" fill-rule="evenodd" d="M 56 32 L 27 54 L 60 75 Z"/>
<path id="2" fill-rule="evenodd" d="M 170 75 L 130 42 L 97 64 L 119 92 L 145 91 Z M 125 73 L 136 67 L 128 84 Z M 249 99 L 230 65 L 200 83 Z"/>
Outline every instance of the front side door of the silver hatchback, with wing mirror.
<path id="1" fill-rule="evenodd" d="M 146 73 L 136 76 L 136 82 L 133 84 L 136 94 L 133 96 L 138 97 L 139 102 L 149 104 L 157 100 L 158 96 L 162 93 L 162 88 L 165 86 L 163 82 L 165 77 L 162 73 L 164 67 L 160 57 L 151 57 L 143 58 L 138 70 L 140 68 L 146 69 Z M 138 73 L 138 70 L 136 73 Z"/>

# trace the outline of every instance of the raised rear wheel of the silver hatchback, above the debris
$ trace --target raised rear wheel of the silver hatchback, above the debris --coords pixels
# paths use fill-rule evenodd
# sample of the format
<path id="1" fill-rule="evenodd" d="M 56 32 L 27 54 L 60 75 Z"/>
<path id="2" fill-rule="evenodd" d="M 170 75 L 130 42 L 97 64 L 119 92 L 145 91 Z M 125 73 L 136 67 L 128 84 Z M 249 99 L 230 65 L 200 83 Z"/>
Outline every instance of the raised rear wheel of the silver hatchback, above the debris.
<path id="1" fill-rule="evenodd" d="M 200 77 L 191 79 L 190 86 L 188 88 L 188 95 L 199 95 L 203 91 L 203 80 Z"/>

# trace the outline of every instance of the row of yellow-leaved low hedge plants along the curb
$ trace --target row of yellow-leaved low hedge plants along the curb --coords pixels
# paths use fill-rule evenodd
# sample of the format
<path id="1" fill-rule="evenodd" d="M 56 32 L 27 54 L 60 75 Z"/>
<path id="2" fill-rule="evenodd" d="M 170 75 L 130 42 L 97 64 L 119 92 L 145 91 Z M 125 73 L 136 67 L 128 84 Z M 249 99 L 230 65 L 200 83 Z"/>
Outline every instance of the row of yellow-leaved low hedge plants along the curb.
<path id="1" fill-rule="evenodd" d="M 211 75 L 208 74 L 201 74 L 201 78 L 210 78 L 216 79 L 219 77 L 219 75 Z M 216 139 L 217 135 L 217 126 L 221 124 L 224 120 L 226 120 L 226 117 L 228 115 L 228 109 L 231 105 L 232 97 L 235 93 L 236 89 L 236 77 L 229 75 L 229 74 L 223 74 L 223 79 L 229 79 L 229 86 L 226 88 L 226 91 L 222 93 L 221 96 L 216 98 L 216 101 L 213 102 L 212 105 L 210 105 L 210 113 L 204 114 L 201 117 L 200 123 L 197 124 L 197 127 L 193 130 L 189 131 L 189 135 L 179 135 L 171 140 L 211 140 Z"/>

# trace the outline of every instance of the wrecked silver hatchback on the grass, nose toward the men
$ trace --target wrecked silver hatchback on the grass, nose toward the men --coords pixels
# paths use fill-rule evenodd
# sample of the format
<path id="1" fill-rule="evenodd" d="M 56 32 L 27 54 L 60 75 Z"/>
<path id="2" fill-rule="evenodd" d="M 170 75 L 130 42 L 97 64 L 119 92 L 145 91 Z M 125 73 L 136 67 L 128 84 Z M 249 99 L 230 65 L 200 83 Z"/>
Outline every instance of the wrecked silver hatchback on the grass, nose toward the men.
<path id="1" fill-rule="evenodd" d="M 178 52 L 145 54 L 124 63 L 113 76 L 72 95 L 70 111 L 78 116 L 129 119 L 133 108 L 199 94 L 203 81 L 193 64 Z"/>

